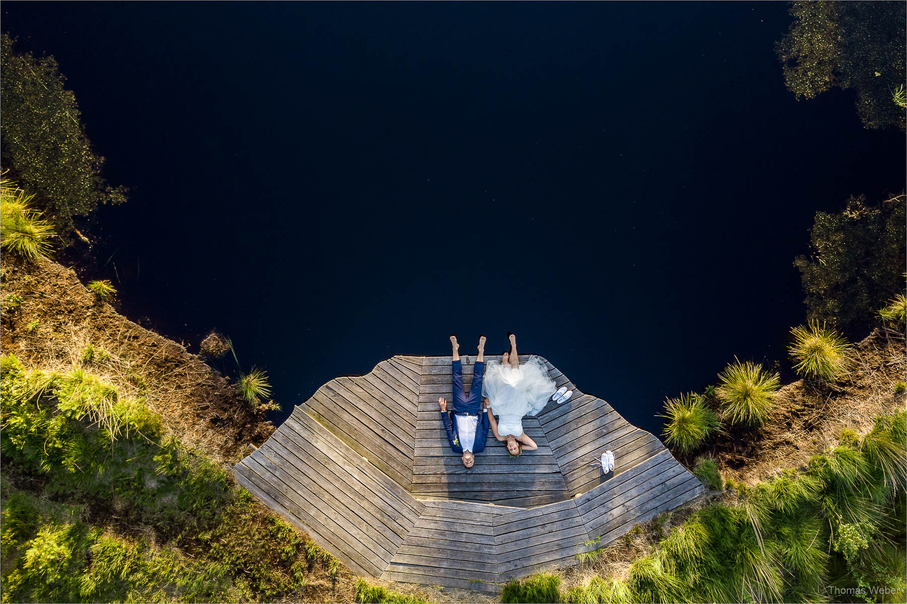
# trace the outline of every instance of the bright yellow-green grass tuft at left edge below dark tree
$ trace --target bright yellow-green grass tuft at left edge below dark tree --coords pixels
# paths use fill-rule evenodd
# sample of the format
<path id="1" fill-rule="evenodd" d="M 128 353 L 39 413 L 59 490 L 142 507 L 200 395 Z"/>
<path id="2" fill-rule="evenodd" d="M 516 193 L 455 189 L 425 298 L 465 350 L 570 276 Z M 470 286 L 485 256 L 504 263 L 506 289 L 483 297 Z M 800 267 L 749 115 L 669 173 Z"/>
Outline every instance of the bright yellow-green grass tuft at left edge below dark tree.
<path id="1" fill-rule="evenodd" d="M 34 262 L 50 255 L 54 228 L 32 206 L 34 195 L 0 180 L 0 248 Z"/>

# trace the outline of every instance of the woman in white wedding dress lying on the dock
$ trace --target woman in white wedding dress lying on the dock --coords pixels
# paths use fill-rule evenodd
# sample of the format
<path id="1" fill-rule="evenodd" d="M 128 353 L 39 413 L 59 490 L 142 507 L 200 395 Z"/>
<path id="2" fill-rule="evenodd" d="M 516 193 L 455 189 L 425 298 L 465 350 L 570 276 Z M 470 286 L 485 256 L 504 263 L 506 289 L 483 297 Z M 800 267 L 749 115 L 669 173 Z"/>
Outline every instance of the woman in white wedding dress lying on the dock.
<path id="1" fill-rule="evenodd" d="M 504 352 L 502 362 L 487 363 L 482 393 L 486 405 L 490 404 L 492 409 L 488 420 L 494 437 L 507 441 L 507 453 L 516 457 L 522 454 L 523 448 L 529 451 L 539 448 L 522 431 L 522 417 L 539 413 L 552 396 L 560 394 L 557 400 L 563 402 L 570 398 L 572 392 L 555 392 L 554 380 L 548 377 L 548 369 L 537 357 L 521 365 L 516 352 L 516 336 L 512 333 L 508 336 L 511 350 Z M 493 414 L 500 416 L 500 419 L 495 419 Z"/>

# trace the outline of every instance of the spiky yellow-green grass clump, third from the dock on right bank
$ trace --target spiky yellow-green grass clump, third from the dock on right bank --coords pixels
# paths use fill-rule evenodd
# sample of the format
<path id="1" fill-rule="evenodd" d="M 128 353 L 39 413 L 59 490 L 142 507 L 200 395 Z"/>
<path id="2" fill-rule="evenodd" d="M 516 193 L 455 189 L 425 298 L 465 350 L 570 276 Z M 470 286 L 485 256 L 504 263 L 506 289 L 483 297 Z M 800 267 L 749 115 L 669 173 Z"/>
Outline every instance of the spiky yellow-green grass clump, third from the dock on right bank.
<path id="1" fill-rule="evenodd" d="M 853 364 L 850 344 L 833 329 L 810 322 L 791 330 L 794 341 L 788 348 L 794 370 L 807 379 L 834 381 Z"/>

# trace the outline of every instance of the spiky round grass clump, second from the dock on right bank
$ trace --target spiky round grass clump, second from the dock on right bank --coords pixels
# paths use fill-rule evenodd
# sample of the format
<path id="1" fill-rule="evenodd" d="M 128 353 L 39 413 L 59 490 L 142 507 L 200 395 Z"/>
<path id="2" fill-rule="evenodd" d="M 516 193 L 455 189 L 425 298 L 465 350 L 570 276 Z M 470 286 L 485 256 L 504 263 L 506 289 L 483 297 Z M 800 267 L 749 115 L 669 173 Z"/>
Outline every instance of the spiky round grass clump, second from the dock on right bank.
<path id="1" fill-rule="evenodd" d="M 715 394 L 722 412 L 732 424 L 761 425 L 772 411 L 772 399 L 780 386 L 776 373 L 761 365 L 736 361 L 718 375 Z"/>

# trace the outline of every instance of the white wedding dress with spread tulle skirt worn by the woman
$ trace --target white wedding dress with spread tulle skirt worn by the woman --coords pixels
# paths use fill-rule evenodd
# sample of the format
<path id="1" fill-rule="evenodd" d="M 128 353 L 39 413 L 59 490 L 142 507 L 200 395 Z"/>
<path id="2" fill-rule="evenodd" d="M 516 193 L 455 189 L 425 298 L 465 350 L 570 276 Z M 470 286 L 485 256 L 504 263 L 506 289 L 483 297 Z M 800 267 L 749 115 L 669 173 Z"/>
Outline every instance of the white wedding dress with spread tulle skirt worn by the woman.
<path id="1" fill-rule="evenodd" d="M 499 416 L 498 434 L 522 435 L 522 417 L 534 416 L 548 403 L 557 387 L 538 357 L 512 369 L 510 363 L 489 361 L 482 381 L 482 396 Z"/>

